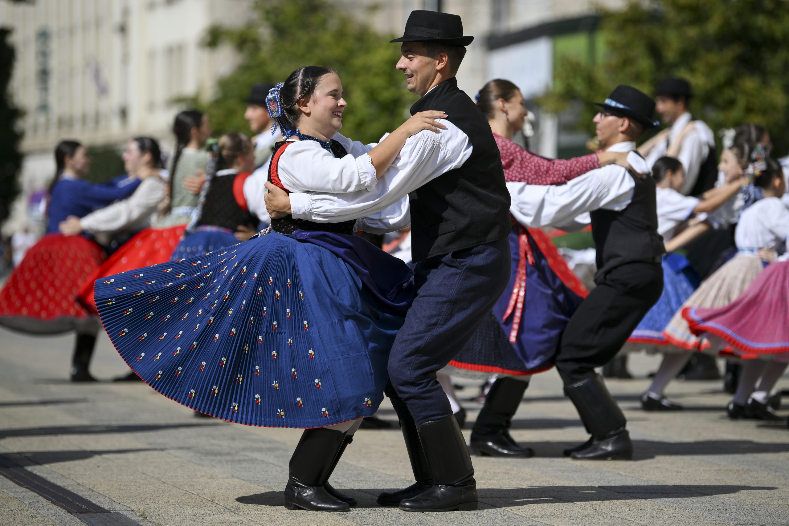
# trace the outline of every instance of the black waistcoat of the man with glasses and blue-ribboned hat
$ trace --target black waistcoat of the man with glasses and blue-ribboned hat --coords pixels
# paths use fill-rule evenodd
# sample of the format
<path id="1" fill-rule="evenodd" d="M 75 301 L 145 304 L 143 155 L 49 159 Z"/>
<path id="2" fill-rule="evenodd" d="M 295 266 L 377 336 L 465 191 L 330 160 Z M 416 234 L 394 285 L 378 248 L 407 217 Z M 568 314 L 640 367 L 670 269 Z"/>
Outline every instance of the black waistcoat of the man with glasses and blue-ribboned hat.
<path id="1" fill-rule="evenodd" d="M 623 169 L 619 169 L 623 170 Z M 666 249 L 657 233 L 657 198 L 652 177 L 635 177 L 633 200 L 624 210 L 596 210 L 592 237 L 596 245 L 595 282 L 615 267 L 662 256 Z"/>

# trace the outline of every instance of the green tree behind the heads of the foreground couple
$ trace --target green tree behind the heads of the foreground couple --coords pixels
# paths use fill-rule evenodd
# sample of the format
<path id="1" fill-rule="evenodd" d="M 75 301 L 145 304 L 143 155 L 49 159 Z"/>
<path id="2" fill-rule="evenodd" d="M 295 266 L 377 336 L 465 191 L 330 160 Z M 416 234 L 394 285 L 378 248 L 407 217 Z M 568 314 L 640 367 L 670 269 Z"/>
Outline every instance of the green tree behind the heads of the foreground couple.
<path id="1" fill-rule="evenodd" d="M 394 69 L 400 53 L 392 38 L 326 0 L 259 0 L 249 24 L 209 29 L 205 45 L 230 44 L 241 62 L 219 80 L 215 99 L 194 102 L 208 111 L 216 132 L 248 132 L 244 100 L 252 84 L 285 80 L 302 65 L 326 65 L 340 76 L 348 102 L 342 132 L 375 141 L 402 124 L 416 101 Z"/>

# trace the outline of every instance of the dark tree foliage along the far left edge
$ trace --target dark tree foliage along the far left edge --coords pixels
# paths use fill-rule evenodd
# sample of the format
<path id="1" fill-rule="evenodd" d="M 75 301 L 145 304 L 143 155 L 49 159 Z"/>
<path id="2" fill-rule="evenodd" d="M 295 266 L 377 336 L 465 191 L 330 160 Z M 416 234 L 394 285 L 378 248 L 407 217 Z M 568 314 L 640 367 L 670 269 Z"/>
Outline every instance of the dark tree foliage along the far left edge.
<path id="1" fill-rule="evenodd" d="M 19 194 L 17 173 L 22 166 L 22 132 L 17 124 L 22 111 L 13 105 L 8 91 L 16 60 L 10 34 L 10 29 L 0 28 L 0 223 L 8 218 L 11 203 Z"/>

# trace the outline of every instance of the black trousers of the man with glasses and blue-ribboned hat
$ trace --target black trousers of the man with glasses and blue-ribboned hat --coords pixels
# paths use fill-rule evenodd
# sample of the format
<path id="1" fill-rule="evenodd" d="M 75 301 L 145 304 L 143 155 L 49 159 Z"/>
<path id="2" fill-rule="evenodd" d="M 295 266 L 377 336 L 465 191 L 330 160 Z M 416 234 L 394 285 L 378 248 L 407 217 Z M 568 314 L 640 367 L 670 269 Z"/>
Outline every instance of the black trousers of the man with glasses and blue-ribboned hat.
<path id="1" fill-rule="evenodd" d="M 660 258 L 626 263 L 605 274 L 562 334 L 556 369 L 565 385 L 592 378 L 595 367 L 608 364 L 662 292 Z"/>

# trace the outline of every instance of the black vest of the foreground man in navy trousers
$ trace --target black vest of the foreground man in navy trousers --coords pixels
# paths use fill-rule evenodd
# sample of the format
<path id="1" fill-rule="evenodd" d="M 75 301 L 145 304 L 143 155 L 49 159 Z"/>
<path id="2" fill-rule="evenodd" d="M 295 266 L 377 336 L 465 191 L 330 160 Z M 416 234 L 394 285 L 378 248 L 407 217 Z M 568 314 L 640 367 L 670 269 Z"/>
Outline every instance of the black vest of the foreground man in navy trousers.
<path id="1" fill-rule="evenodd" d="M 413 261 L 496 241 L 512 227 L 499 147 L 477 105 L 451 78 L 411 106 L 412 115 L 426 110 L 445 112 L 473 151 L 463 166 L 409 194 Z"/>

